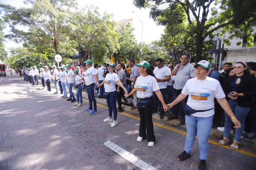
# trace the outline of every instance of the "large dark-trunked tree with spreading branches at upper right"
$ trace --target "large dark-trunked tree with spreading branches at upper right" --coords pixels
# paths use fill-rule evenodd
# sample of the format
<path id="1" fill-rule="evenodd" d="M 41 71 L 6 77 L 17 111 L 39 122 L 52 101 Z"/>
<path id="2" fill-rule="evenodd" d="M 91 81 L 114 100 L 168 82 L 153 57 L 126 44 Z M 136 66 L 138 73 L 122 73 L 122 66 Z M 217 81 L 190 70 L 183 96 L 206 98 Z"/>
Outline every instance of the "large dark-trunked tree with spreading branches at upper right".
<path id="1" fill-rule="evenodd" d="M 157 24 L 168 26 L 173 35 L 180 34 L 184 31 L 181 26 L 188 24 L 185 31 L 196 45 L 196 62 L 202 59 L 204 40 L 208 36 L 211 38 L 216 30 L 223 28 L 223 32 L 231 33 L 231 37 L 248 37 L 251 36 L 252 26 L 256 24 L 255 10 L 251 8 L 256 6 L 255 0 L 246 2 L 244 0 L 134 0 L 133 2 L 138 8 L 151 8 L 150 17 Z M 241 27 L 243 33 L 239 31 Z"/>

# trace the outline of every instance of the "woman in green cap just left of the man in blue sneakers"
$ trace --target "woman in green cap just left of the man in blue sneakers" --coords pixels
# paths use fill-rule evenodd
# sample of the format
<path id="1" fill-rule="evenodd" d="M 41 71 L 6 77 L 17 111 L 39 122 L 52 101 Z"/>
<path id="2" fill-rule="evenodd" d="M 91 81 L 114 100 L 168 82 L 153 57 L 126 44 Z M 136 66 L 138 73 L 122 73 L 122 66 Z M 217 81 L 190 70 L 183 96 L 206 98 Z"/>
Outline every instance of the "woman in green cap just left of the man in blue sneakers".
<path id="1" fill-rule="evenodd" d="M 82 80 L 81 75 L 78 73 L 78 69 L 74 70 L 74 74 L 75 74 L 75 83 L 76 83 L 76 103 L 74 104 L 74 106 L 82 106 L 83 103 L 83 97 L 82 97 L 82 90 L 83 90 L 83 85 L 82 82 L 84 83 L 84 80 Z"/>

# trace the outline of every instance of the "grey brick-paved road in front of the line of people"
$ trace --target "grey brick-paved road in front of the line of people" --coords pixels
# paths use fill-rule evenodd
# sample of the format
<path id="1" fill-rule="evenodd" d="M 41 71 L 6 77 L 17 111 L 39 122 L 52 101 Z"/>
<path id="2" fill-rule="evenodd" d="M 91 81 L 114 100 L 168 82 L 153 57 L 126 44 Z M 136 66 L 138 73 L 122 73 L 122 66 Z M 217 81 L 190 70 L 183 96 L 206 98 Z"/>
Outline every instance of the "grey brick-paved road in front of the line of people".
<path id="1" fill-rule="evenodd" d="M 1 90 L 33 88 L 19 79 L 0 77 Z M 88 107 L 85 101 L 83 106 L 75 107 L 41 90 L 0 93 L 0 169 L 139 169 L 106 146 L 108 141 L 139 158 L 140 169 L 145 163 L 159 170 L 197 169 L 197 139 L 192 158 L 179 162 L 176 158 L 183 151 L 185 135 L 154 126 L 156 143 L 148 147 L 146 140 L 136 141 L 139 120 L 118 114 L 118 125 L 111 128 L 111 122 L 103 122 L 107 109 L 98 106 L 99 113 L 91 116 L 84 113 Z M 255 161 L 255 157 L 209 143 L 208 170 L 253 170 Z"/>

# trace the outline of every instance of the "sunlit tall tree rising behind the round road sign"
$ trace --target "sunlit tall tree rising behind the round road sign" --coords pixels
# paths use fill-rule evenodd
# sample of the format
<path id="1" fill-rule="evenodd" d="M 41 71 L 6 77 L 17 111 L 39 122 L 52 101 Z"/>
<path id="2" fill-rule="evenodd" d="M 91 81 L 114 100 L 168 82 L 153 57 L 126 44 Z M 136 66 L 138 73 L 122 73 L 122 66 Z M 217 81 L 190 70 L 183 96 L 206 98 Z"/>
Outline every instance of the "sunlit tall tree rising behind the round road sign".
<path id="1" fill-rule="evenodd" d="M 66 18 L 69 15 L 69 8 L 76 6 L 75 0 L 26 0 L 31 7 L 19 8 L 5 7 L 5 20 L 9 23 L 12 34 L 8 37 L 16 42 L 22 42 L 24 38 L 28 41 L 37 38 L 51 44 L 55 54 L 59 50 L 65 51 L 67 45 L 64 29 Z M 22 25 L 25 29 L 19 30 L 16 26 Z M 28 30 L 28 33 L 26 30 Z M 34 33 L 38 33 L 35 35 Z M 32 41 L 31 41 L 32 42 Z M 38 42 L 35 42 L 37 44 Z M 64 49 L 60 49 L 60 43 Z M 72 46 L 71 46 L 72 48 Z"/>

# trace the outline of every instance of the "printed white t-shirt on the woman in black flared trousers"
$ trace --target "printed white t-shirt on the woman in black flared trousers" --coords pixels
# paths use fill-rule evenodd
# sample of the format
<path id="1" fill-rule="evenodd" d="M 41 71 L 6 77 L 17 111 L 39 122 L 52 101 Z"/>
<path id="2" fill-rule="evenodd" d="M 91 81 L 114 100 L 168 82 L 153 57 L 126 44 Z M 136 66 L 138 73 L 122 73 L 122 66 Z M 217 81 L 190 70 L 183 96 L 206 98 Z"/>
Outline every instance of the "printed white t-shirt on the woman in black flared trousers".
<path id="1" fill-rule="evenodd" d="M 134 88 L 137 90 L 137 97 L 139 99 L 151 97 L 153 92 L 159 90 L 156 78 L 151 75 L 137 77 Z"/>

